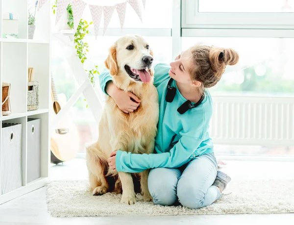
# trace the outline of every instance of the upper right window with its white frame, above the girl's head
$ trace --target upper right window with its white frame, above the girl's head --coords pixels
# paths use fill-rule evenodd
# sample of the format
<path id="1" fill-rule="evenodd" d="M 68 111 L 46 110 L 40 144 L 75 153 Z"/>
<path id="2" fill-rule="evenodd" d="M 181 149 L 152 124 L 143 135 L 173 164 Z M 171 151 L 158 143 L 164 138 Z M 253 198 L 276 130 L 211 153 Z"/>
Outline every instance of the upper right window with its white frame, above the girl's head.
<path id="1" fill-rule="evenodd" d="M 184 28 L 293 29 L 293 0 L 183 0 Z"/>

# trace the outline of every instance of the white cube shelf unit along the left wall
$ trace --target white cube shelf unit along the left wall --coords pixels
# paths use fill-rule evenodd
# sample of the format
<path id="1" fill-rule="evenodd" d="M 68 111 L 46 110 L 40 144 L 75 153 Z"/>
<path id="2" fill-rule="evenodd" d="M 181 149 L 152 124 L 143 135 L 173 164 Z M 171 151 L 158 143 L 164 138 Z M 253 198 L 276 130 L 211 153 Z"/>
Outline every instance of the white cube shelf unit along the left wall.
<path id="1" fill-rule="evenodd" d="M 49 102 L 50 102 L 50 15 L 48 0 L 36 12 L 34 39 L 27 39 L 28 4 L 35 0 L 0 0 L 0 14 L 13 12 L 19 15 L 19 39 L 0 38 L 0 82 L 10 82 L 10 101 L 12 113 L 0 113 L 0 148 L 2 142 L 2 123 L 22 124 L 22 186 L 1 195 L 0 204 L 43 187 L 49 180 L 50 141 L 49 141 Z M 33 9 L 32 9 L 33 11 Z M 2 19 L 0 23 L 2 37 Z M 28 67 L 34 68 L 34 80 L 39 82 L 39 109 L 27 111 Z M 0 92 L 2 99 L 2 92 Z M 2 109 L 1 109 L 2 110 Z M 27 182 L 27 120 L 41 119 L 41 177 Z M 0 155 L 1 158 L 1 155 Z M 0 165 L 0 176 L 1 176 Z M 1 177 L 0 177 L 1 178 Z M 1 182 L 1 179 L 0 179 Z"/>

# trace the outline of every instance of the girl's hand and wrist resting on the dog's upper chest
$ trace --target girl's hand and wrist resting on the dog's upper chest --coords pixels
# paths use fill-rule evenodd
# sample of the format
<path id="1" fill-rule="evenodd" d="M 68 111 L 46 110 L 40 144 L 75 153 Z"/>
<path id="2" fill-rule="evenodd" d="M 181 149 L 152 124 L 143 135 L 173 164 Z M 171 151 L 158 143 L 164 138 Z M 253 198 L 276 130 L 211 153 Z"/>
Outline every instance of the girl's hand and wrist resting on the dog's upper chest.
<path id="1" fill-rule="evenodd" d="M 134 112 L 140 105 L 141 100 L 137 96 L 131 92 L 124 92 L 112 82 L 107 85 L 106 92 L 124 113 Z"/>

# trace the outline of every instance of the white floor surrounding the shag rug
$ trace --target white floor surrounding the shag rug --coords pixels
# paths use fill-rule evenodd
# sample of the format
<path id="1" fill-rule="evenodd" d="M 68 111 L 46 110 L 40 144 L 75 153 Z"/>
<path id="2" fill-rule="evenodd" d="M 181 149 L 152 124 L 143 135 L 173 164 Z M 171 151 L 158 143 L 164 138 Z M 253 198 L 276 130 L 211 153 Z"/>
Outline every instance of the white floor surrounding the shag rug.
<path id="1" fill-rule="evenodd" d="M 226 162 L 223 171 L 232 179 L 294 178 L 294 162 Z M 52 166 L 50 173 L 55 180 L 85 179 L 85 160 Z M 294 214 L 53 218 L 47 212 L 45 188 L 0 205 L 0 225 L 293 225 L 293 221 Z"/>

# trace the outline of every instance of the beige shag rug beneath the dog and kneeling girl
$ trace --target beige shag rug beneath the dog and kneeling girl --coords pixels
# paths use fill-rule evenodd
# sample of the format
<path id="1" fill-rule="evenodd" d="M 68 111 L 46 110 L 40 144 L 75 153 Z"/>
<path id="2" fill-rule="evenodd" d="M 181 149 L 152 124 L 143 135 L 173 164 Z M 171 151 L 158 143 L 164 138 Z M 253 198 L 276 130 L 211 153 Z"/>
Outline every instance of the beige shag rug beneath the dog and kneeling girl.
<path id="1" fill-rule="evenodd" d="M 216 214 L 268 214 L 294 212 L 294 180 L 231 181 L 227 195 L 201 209 L 161 206 L 144 202 L 120 203 L 121 195 L 92 196 L 87 181 L 56 180 L 47 186 L 48 211 L 54 217 L 77 216 L 167 216 Z"/>

